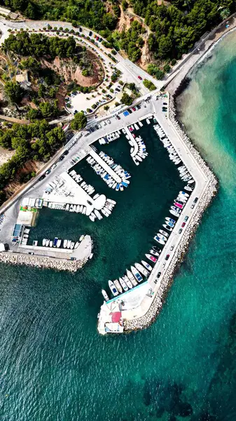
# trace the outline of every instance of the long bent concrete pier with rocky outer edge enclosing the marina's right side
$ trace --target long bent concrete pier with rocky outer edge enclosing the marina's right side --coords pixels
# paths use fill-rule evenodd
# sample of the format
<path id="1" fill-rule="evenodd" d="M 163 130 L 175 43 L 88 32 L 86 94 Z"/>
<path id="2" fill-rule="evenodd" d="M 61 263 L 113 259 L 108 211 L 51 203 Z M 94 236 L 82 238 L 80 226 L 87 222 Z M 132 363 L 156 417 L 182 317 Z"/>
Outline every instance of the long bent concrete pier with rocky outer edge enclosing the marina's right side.
<path id="1" fill-rule="evenodd" d="M 197 229 L 202 213 L 209 206 L 211 199 L 217 191 L 217 180 L 214 174 L 211 173 L 209 167 L 193 147 L 186 133 L 181 130 L 179 123 L 175 119 L 173 98 L 169 98 L 169 118 L 166 118 L 164 113 L 162 113 L 162 100 L 153 101 L 153 109 L 158 124 L 178 152 L 183 164 L 193 175 L 195 189 L 186 206 L 183 208 L 181 217 L 177 220 L 168 241 L 162 249 L 160 258 L 148 278 L 148 293 L 144 293 L 141 301 L 134 302 L 132 308 L 126 307 L 124 309 L 120 306 L 120 302 L 125 300 L 123 298 L 124 294 L 113 300 L 113 309 L 104 302 L 101 307 L 102 311 L 99 314 L 98 323 L 98 330 L 102 335 L 112 332 L 122 333 L 123 331 L 129 332 L 131 330 L 142 329 L 152 323 L 162 308 L 176 267 L 178 267 L 183 259 L 184 253 L 188 249 L 188 243 Z M 195 198 L 197 198 L 197 202 L 193 205 Z M 188 221 L 182 231 L 179 232 L 186 215 L 188 216 Z M 171 246 L 173 250 L 170 250 Z M 170 255 L 169 260 L 165 260 L 167 254 Z M 164 262 L 165 265 L 163 265 Z M 160 272 L 159 277 L 157 276 L 158 272 Z M 133 293 L 135 294 L 135 289 Z M 113 331 L 113 325 L 111 323 L 112 313 L 120 315 L 119 324 L 122 326 L 122 329 L 117 330 L 117 326 L 114 325 L 115 330 Z M 116 323 L 117 319 L 116 317 Z M 106 321 L 108 320 L 109 328 L 106 327 Z"/>

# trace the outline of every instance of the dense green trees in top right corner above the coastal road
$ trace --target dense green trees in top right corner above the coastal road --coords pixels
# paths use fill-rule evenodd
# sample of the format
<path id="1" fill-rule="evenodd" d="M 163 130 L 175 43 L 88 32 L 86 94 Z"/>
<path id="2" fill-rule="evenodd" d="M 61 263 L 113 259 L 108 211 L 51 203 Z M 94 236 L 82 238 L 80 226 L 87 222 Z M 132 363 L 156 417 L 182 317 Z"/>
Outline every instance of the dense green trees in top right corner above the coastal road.
<path id="1" fill-rule="evenodd" d="M 134 13 L 145 18 L 153 32 L 148 46 L 157 59 L 181 58 L 205 31 L 235 11 L 233 0 L 171 0 L 158 6 L 153 0 L 134 0 Z"/>

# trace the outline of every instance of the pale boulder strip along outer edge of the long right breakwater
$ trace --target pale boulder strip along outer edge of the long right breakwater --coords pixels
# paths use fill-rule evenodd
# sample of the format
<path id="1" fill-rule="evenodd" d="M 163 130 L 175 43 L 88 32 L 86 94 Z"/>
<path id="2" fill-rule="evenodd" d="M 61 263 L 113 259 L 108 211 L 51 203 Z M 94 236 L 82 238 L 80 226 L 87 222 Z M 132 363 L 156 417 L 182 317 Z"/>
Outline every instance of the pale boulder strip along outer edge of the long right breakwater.
<path id="1" fill-rule="evenodd" d="M 200 153 L 195 149 L 193 143 L 190 141 L 186 133 L 182 130 L 179 121 L 176 118 L 176 107 L 174 103 L 174 97 L 172 95 L 169 96 L 169 121 L 171 121 L 172 125 L 174 126 L 175 131 L 179 134 L 183 142 L 185 142 L 186 146 L 188 147 L 190 154 L 192 154 L 197 161 L 197 164 L 202 169 L 204 175 L 206 175 L 208 183 L 202 193 L 200 200 L 197 202 L 197 206 L 195 208 L 195 213 L 191 218 L 190 222 L 186 227 L 186 231 L 183 234 L 181 241 L 179 242 L 178 247 L 172 257 L 172 260 L 167 268 L 165 276 L 163 276 L 162 281 L 160 283 L 160 287 L 158 288 L 157 293 L 155 294 L 155 298 L 151 302 L 151 307 L 149 307 L 148 312 L 144 314 L 144 316 L 139 317 L 135 320 L 124 320 L 124 331 L 126 333 L 131 332 L 132 330 L 141 330 L 147 328 L 148 326 L 155 321 L 156 317 L 160 313 L 162 309 L 162 305 L 165 302 L 165 298 L 167 297 L 168 290 L 172 285 L 174 280 L 174 274 L 176 273 L 177 269 L 181 265 L 186 252 L 188 251 L 188 246 L 190 240 L 193 238 L 198 225 L 200 224 L 200 220 L 202 218 L 202 214 L 204 210 L 210 205 L 212 199 L 217 193 L 218 188 L 218 180 L 216 179 L 215 175 L 212 173 L 207 163 L 205 163 Z"/>

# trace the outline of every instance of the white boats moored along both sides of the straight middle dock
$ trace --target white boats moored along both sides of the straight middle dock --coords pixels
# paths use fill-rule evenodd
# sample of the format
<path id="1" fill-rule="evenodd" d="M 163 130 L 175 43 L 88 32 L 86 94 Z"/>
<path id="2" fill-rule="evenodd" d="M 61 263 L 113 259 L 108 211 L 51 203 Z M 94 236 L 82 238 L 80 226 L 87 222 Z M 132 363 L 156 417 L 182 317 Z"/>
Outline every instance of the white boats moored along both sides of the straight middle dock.
<path id="1" fill-rule="evenodd" d="M 120 182 L 114 180 L 112 175 L 110 175 L 91 155 L 88 156 L 87 162 L 90 164 L 95 173 L 99 175 L 104 182 L 106 182 L 108 187 L 116 189 L 116 191 L 120 190 L 123 192 L 124 187 L 128 187 L 130 184 L 130 180 L 128 180 L 131 177 L 130 173 L 125 171 L 118 163 L 115 163 L 111 156 L 105 154 L 104 152 L 99 152 L 99 157 L 118 175 Z"/>

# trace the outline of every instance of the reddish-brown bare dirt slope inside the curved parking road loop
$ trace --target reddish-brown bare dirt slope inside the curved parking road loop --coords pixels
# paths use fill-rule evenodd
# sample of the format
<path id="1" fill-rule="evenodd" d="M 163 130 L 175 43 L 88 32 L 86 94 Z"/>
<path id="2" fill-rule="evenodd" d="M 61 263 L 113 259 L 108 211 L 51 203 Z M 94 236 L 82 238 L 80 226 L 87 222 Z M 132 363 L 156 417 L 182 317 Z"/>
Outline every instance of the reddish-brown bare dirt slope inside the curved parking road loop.
<path id="1" fill-rule="evenodd" d="M 50 68 L 60 74 L 65 83 L 76 81 L 76 83 L 81 86 L 94 86 L 99 83 L 101 77 L 101 64 L 94 54 L 88 53 L 88 55 L 92 62 L 93 76 L 83 76 L 82 70 L 71 59 L 60 60 L 60 58 L 57 57 L 53 62 L 49 62 L 45 58 L 42 58 L 41 65 L 44 68 Z"/>

